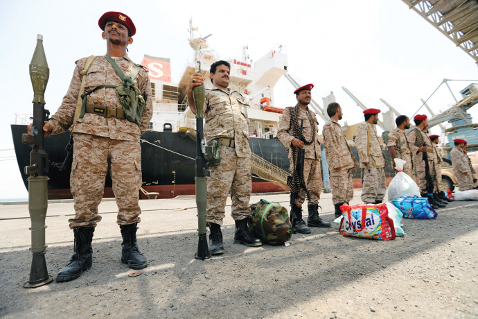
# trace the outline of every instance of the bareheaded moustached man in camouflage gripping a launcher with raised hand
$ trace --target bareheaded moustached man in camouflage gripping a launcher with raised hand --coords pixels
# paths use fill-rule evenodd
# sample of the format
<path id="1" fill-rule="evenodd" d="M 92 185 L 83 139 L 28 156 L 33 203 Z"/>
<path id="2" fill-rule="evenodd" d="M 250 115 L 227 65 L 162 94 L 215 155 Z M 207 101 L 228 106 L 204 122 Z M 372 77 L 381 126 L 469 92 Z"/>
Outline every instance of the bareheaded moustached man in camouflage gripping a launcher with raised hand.
<path id="1" fill-rule="evenodd" d="M 231 216 L 236 221 L 234 243 L 251 247 L 262 245 L 249 232 L 251 216 L 251 149 L 247 123 L 247 107 L 244 97 L 229 86 L 231 65 L 227 61 L 211 64 L 212 89 L 206 89 L 204 101 L 204 137 L 216 139 L 219 144 L 221 162 L 210 167 L 211 177 L 207 180 L 206 221 L 211 230 L 209 251 L 212 255 L 224 253 L 221 225 L 225 216 L 226 200 L 231 191 Z M 204 83 L 202 74 L 195 73 L 189 79 L 188 104 L 196 113 L 193 87 Z"/>

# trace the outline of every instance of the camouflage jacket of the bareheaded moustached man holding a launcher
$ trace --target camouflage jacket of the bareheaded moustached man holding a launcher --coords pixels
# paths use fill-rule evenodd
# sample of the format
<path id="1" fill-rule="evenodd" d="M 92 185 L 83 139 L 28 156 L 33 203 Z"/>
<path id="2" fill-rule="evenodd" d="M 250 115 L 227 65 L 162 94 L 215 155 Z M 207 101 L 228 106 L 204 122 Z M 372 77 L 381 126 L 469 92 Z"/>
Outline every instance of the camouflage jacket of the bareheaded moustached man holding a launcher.
<path id="1" fill-rule="evenodd" d="M 206 89 L 204 100 L 204 137 L 206 140 L 217 138 L 234 139 L 238 157 L 251 156 L 249 148 L 249 130 L 247 106 L 244 97 L 237 91 L 219 87 Z"/>

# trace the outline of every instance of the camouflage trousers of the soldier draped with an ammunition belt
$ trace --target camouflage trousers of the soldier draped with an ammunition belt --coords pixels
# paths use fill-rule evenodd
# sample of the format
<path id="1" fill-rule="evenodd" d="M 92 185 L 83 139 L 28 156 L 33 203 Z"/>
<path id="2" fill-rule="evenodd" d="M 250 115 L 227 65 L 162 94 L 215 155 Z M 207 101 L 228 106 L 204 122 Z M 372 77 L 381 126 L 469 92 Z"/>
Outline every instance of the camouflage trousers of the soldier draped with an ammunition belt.
<path id="1" fill-rule="evenodd" d="M 294 171 L 294 164 L 290 162 L 289 169 Z M 322 192 L 322 175 L 320 172 L 320 160 L 312 158 L 304 159 L 303 163 L 303 181 L 306 184 L 307 190 L 310 194 L 310 202 L 308 205 L 319 204 L 320 193 Z M 302 188 L 299 191 L 299 202 L 303 204 L 306 201 L 306 191 Z"/>

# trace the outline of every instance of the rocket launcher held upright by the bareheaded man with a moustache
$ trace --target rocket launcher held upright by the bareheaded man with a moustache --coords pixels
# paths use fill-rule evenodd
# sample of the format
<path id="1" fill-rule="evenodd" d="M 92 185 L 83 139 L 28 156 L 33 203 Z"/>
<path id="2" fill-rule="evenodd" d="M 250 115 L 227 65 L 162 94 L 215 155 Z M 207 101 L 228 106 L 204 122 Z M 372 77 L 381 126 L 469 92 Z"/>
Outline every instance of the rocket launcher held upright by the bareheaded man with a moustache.
<path id="1" fill-rule="evenodd" d="M 201 62 L 199 64 L 199 73 L 201 73 Z M 206 160 L 206 154 L 212 152 L 211 146 L 207 146 L 204 139 L 204 96 L 206 89 L 204 84 L 193 87 L 194 103 L 196 105 L 196 206 L 197 206 L 197 232 L 199 233 L 199 242 L 197 243 L 197 252 L 194 255 L 196 259 L 208 259 L 211 257 L 206 236 L 206 200 L 207 185 L 206 178 L 211 176 L 209 164 Z"/>

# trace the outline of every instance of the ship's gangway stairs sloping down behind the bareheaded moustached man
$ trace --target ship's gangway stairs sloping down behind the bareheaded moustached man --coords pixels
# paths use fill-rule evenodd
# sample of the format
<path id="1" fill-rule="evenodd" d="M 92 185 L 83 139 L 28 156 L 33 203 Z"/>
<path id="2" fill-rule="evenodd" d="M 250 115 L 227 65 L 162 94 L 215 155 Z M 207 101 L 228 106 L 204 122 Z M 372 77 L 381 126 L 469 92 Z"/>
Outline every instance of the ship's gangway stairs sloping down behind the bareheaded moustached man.
<path id="1" fill-rule="evenodd" d="M 178 132 L 182 137 L 188 136 L 193 141 L 196 140 L 196 130 L 193 128 L 182 127 L 179 128 Z M 287 176 L 289 173 L 254 153 L 251 153 L 251 173 L 262 180 L 278 184 L 286 191 L 289 190 L 287 187 Z"/>

